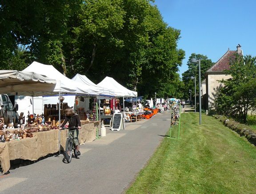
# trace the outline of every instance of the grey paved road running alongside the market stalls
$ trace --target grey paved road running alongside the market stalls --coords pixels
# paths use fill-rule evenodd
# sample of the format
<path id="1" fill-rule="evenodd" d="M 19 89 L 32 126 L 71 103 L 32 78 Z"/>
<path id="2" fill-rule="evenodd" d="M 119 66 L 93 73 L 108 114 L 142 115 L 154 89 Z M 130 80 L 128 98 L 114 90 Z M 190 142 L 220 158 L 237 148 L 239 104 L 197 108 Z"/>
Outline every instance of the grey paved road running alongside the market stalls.
<path id="1" fill-rule="evenodd" d="M 127 123 L 123 131 L 80 146 L 79 159 L 63 155 L 10 170 L 0 176 L 1 194 L 120 194 L 146 165 L 170 126 L 170 112 Z"/>

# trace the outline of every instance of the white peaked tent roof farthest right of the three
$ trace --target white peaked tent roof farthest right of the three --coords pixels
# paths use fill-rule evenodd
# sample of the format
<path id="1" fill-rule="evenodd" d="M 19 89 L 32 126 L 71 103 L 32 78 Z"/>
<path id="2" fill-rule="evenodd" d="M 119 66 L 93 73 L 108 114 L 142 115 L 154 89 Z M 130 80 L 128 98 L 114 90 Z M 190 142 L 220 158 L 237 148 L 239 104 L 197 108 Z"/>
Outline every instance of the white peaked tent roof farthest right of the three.
<path id="1" fill-rule="evenodd" d="M 128 90 L 126 87 L 122 86 L 115 79 L 111 77 L 105 77 L 100 83 L 97 84 L 100 87 L 105 87 L 115 91 L 115 96 L 126 96 L 126 97 L 136 97 L 137 92 Z"/>

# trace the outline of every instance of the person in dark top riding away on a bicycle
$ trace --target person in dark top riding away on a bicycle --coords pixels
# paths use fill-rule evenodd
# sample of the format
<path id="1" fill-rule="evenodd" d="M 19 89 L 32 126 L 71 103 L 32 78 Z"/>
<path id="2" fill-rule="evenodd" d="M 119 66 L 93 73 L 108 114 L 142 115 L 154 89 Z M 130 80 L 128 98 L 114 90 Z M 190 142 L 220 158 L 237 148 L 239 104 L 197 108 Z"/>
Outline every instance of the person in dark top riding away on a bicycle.
<path id="1" fill-rule="evenodd" d="M 78 129 L 81 128 L 81 122 L 80 122 L 79 116 L 75 115 L 75 112 L 72 108 L 67 108 L 65 110 L 65 114 L 66 114 L 66 117 L 65 117 L 64 122 L 60 126 L 60 129 L 62 129 L 67 122 L 69 123 L 68 128 L 74 128 L 74 127 L 77 127 Z M 78 131 L 78 129 L 76 129 L 74 131 L 74 143 L 76 146 L 77 155 L 80 155 L 81 153 L 79 151 L 79 140 L 78 140 L 79 131 Z"/>

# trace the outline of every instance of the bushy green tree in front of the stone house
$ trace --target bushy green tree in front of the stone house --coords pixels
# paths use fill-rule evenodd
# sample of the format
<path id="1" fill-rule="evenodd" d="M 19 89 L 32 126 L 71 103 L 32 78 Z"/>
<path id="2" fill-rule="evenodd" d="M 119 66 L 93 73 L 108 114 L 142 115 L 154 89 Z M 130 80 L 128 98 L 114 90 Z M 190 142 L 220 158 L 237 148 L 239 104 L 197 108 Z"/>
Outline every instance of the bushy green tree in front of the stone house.
<path id="1" fill-rule="evenodd" d="M 226 74 L 232 78 L 220 80 L 216 111 L 246 123 L 248 110 L 256 106 L 256 57 L 236 55 L 230 64 Z"/>

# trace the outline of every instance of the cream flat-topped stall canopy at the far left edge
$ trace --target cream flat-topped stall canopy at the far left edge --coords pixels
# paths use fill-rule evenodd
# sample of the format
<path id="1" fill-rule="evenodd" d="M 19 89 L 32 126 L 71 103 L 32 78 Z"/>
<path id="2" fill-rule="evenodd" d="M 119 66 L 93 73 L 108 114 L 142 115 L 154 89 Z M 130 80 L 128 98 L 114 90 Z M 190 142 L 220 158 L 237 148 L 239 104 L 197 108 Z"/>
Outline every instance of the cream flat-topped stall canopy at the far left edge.
<path id="1" fill-rule="evenodd" d="M 0 91 L 8 95 L 38 96 L 52 91 L 56 80 L 29 71 L 0 70 Z"/>

